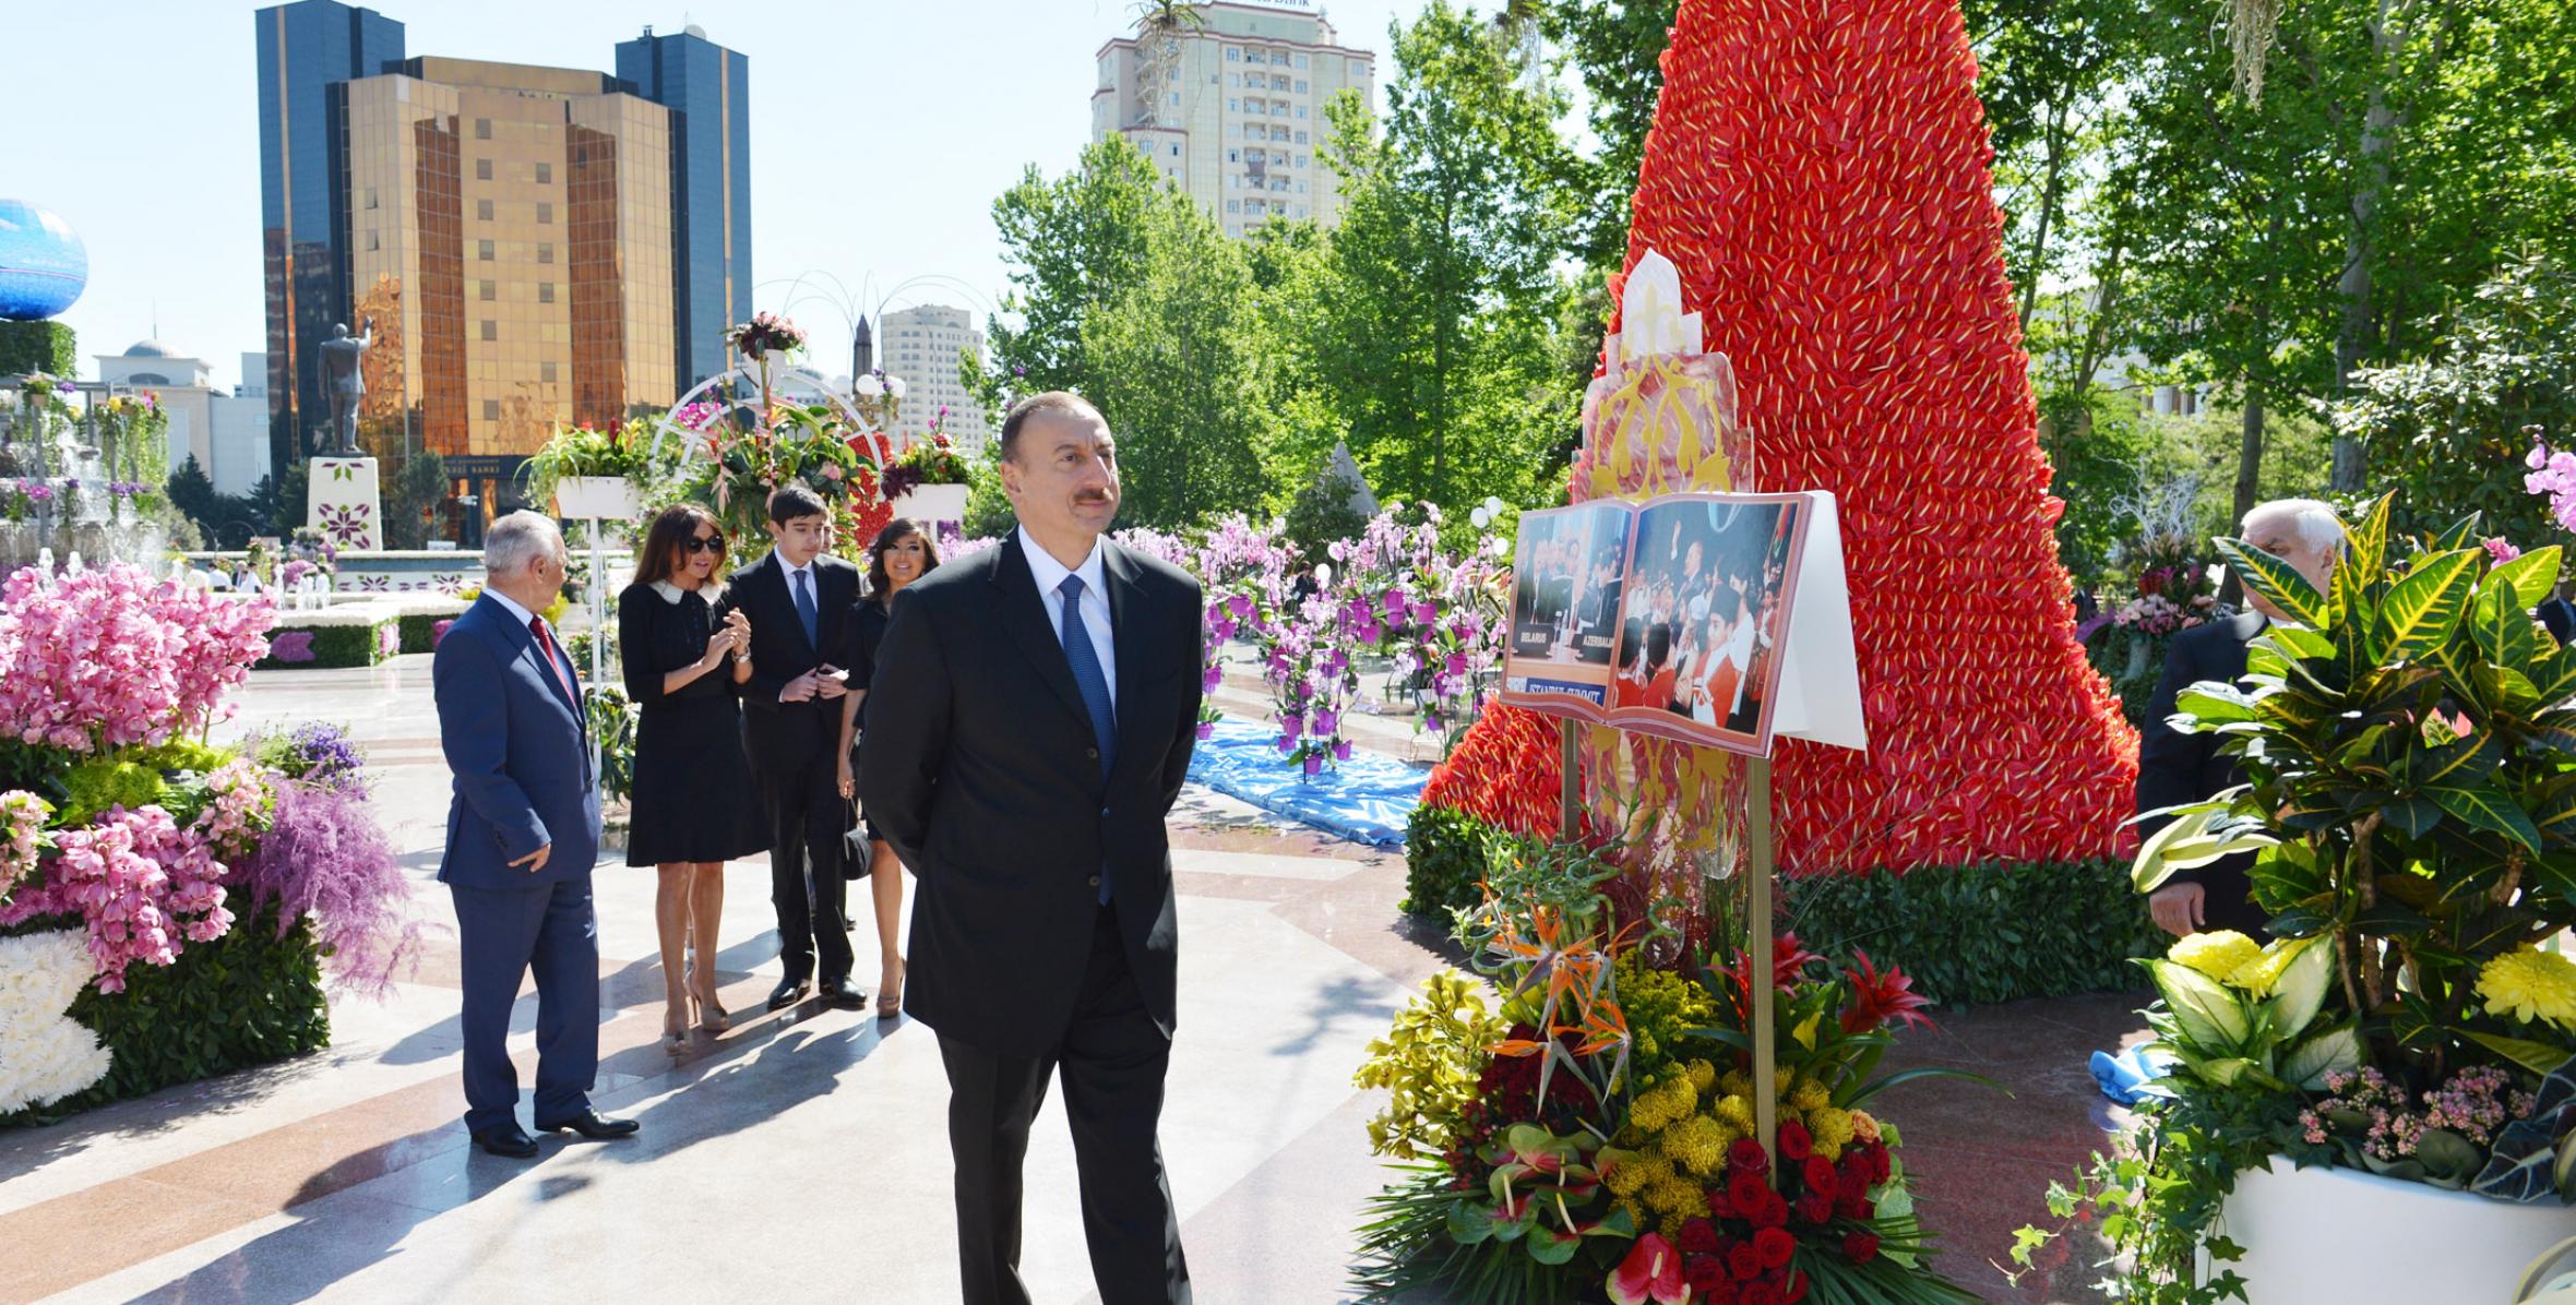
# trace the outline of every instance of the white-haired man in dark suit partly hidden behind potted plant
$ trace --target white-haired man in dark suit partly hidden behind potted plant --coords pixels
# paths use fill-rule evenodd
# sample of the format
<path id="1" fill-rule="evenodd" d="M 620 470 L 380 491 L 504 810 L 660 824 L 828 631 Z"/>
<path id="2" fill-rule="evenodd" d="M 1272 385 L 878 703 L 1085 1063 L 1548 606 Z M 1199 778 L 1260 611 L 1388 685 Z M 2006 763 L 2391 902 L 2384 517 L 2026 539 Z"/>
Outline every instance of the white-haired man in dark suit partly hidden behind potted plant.
<path id="1" fill-rule="evenodd" d="M 2246 512 L 2239 538 L 2287 561 L 2290 569 L 2308 577 L 2308 584 L 2324 589 L 2344 546 L 2344 523 L 2316 499 L 2272 499 Z M 2146 726 L 2138 728 L 2138 811 L 2197 803 L 2244 782 L 2236 759 L 2218 752 L 2218 734 L 2182 734 L 2164 721 L 2174 716 L 2174 698 L 2182 690 L 2202 680 L 2233 685 L 2244 677 L 2246 643 L 2272 620 L 2287 620 L 2272 600 L 2257 592 L 2246 592 L 2246 605 L 2251 610 L 2182 631 L 2166 646 L 2164 677 L 2156 680 Z M 2161 824 L 2141 821 L 2138 837 L 2154 834 Z M 2251 898 L 2251 855 L 2236 855 L 2195 870 L 2177 870 L 2148 893 L 2148 914 L 2174 937 L 2200 929 L 2264 937 L 2269 916 Z"/>

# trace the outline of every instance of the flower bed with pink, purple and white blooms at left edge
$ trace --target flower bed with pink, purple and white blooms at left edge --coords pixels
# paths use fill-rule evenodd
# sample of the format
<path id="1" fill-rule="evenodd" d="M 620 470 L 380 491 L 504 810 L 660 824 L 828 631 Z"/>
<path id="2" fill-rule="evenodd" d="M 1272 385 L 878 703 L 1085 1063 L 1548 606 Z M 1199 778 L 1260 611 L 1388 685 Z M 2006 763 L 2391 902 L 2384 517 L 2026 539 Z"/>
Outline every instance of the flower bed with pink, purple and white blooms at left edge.
<path id="1" fill-rule="evenodd" d="M 196 741 L 270 620 L 134 566 L 0 584 L 0 1125 L 314 1050 L 325 960 L 407 955 L 355 749 Z"/>

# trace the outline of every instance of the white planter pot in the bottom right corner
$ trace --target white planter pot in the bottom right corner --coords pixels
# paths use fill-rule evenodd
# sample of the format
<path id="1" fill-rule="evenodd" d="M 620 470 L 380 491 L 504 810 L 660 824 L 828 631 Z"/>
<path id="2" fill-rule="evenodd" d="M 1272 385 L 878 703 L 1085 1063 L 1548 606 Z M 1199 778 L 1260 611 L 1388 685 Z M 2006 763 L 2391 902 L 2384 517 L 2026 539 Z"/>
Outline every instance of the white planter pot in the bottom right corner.
<path id="1" fill-rule="evenodd" d="M 2244 1246 L 2228 1264 L 2254 1305 L 2352 1300 L 2514 1300 L 2522 1269 L 2566 1236 L 2576 1207 L 2519 1205 L 2360 1169 L 2236 1174 L 2221 1233 Z M 2221 1269 L 2205 1264 L 2202 1272 Z"/>

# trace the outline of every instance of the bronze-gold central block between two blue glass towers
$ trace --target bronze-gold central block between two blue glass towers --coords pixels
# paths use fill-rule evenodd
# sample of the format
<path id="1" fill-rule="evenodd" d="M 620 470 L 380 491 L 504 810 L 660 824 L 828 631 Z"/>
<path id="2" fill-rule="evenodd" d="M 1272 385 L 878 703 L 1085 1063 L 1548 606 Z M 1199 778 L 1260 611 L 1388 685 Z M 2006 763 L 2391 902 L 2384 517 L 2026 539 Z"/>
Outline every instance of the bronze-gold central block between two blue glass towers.
<path id="1" fill-rule="evenodd" d="M 600 72 L 410 59 L 348 95 L 345 286 L 366 420 L 440 456 L 677 399 L 672 113 Z"/>

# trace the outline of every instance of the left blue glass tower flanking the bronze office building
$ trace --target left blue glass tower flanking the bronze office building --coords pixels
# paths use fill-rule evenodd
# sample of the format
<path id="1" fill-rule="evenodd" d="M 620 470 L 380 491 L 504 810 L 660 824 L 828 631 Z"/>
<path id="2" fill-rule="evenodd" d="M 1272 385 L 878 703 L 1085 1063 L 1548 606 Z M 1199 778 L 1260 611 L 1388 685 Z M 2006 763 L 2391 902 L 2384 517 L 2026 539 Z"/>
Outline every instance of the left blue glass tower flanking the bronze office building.
<path id="1" fill-rule="evenodd" d="M 252 15 L 260 82 L 260 260 L 268 299 L 270 466 L 327 425 L 319 353 L 350 304 L 335 88 L 402 59 L 402 23 L 335 0 Z M 355 329 L 355 322 L 350 322 Z"/>

